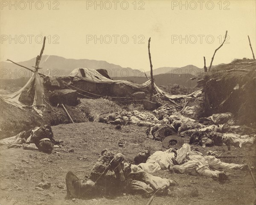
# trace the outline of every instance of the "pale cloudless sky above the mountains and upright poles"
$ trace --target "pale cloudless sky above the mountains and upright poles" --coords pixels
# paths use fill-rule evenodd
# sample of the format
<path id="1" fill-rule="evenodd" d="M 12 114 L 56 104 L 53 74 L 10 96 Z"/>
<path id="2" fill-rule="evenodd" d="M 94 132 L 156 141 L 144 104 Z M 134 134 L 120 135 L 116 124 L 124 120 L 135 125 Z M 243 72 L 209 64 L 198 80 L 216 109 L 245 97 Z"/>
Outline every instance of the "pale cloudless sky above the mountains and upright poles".
<path id="1" fill-rule="evenodd" d="M 153 68 L 189 64 L 202 68 L 203 57 L 209 66 L 226 30 L 228 44 L 217 51 L 214 65 L 252 58 L 247 35 L 256 54 L 255 0 L 41 2 L 11 1 L 11 6 L 10 1 L 1 1 L 1 61 L 36 57 L 41 36 L 47 36 L 44 54 L 148 71 L 151 37 Z"/>

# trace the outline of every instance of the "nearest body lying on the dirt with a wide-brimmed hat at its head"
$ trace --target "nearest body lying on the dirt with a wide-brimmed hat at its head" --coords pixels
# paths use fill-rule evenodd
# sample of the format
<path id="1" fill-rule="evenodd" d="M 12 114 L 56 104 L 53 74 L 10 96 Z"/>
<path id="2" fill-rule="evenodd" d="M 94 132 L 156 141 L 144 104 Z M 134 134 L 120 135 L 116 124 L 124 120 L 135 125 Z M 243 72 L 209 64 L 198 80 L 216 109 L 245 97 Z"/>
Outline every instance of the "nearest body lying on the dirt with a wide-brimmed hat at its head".
<path id="1" fill-rule="evenodd" d="M 72 198 L 92 198 L 116 193 L 149 194 L 165 191 L 177 185 L 175 180 L 153 176 L 142 168 L 124 162 L 121 153 L 105 149 L 101 152 L 90 176 L 79 179 L 73 172 L 66 175 L 67 196 Z"/>

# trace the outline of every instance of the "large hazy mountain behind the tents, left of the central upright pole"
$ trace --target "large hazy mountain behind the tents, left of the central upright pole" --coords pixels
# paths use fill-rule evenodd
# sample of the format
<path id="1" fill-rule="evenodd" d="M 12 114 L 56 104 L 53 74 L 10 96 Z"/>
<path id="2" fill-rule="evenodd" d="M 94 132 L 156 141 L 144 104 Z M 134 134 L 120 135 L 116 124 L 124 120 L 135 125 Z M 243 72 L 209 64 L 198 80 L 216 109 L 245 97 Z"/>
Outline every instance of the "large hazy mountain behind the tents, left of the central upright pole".
<path id="1" fill-rule="evenodd" d="M 12 60 L 15 61 L 14 59 Z M 36 58 L 32 58 L 31 60 L 15 63 L 30 69 L 34 69 L 32 66 L 35 66 L 35 60 Z M 144 75 L 144 73 L 139 70 L 134 70 L 132 68 L 122 68 L 120 65 L 108 63 L 103 60 L 66 59 L 64 57 L 54 55 L 43 55 L 40 62 L 40 67 L 42 67 L 40 71 L 45 75 L 48 75 L 49 72 L 50 75 L 68 75 L 75 68 L 107 69 L 111 77 L 128 77 L 134 76 L 135 74 L 137 76 Z M 15 65 L 9 61 L 0 62 L 0 68 L 6 69 L 6 71 L 1 72 L 1 77 L 3 78 L 16 78 L 15 73 L 17 74 L 17 77 L 23 77 L 23 71 L 27 71 L 27 74 L 30 72 L 25 68 L 21 68 L 20 66 Z"/>

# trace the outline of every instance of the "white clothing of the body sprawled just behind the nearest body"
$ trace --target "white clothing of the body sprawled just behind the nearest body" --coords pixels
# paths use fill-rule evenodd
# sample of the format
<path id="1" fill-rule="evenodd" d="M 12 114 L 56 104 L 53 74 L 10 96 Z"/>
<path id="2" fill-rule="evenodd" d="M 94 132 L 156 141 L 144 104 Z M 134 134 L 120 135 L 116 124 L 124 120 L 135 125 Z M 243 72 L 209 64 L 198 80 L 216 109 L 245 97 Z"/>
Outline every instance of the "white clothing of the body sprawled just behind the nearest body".
<path id="1" fill-rule="evenodd" d="M 143 152 L 140 155 L 144 155 Z M 138 164 L 140 168 L 148 173 L 155 171 L 170 170 L 185 173 L 187 170 L 195 170 L 202 176 L 225 179 L 227 175 L 218 169 L 245 169 L 246 164 L 233 164 L 221 162 L 214 156 L 203 156 L 201 152 L 192 151 L 189 144 L 176 150 L 170 148 L 166 151 L 156 151 L 148 157 L 145 163 Z"/>

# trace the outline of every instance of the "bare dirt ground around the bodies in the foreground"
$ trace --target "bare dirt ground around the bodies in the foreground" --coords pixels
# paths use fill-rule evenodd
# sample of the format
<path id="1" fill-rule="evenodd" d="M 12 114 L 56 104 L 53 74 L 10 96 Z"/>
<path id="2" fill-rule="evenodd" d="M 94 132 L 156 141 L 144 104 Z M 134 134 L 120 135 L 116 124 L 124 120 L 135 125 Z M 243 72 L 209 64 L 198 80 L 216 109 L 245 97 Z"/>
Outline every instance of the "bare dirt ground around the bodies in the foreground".
<path id="1" fill-rule="evenodd" d="M 7 145 L 2 145 L 0 204 L 146 204 L 149 197 L 129 194 L 101 196 L 90 200 L 66 198 L 67 172 L 73 171 L 79 179 L 84 178 L 104 148 L 121 152 L 127 159 L 133 159 L 135 154 L 148 145 L 153 147 L 153 151 L 165 150 L 161 143 L 146 138 L 144 127 L 128 125 L 121 130 L 115 130 L 114 127 L 98 122 L 52 126 L 55 139 L 64 141 L 63 147 L 57 148 L 52 154 L 22 148 L 8 149 Z M 119 147 L 118 142 L 123 142 L 124 146 Z M 212 150 L 219 154 L 222 152 L 221 155 L 246 155 L 221 160 L 256 165 L 255 157 L 250 157 L 255 155 L 255 145 L 231 147 L 231 151 L 227 151 L 226 146 L 198 148 L 203 154 Z M 178 185 L 171 188 L 170 194 L 156 196 L 151 204 L 253 204 L 256 194 L 249 171 L 229 170 L 227 173 L 230 174 L 230 180 L 218 181 L 200 177 L 195 171 L 187 174 L 158 171 L 154 175 L 175 179 Z M 42 180 L 50 182 L 51 186 L 38 191 L 35 187 Z M 198 190 L 198 196 L 193 197 L 191 191 L 195 189 Z"/>

